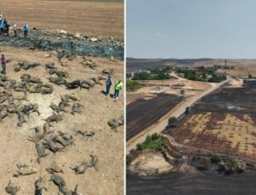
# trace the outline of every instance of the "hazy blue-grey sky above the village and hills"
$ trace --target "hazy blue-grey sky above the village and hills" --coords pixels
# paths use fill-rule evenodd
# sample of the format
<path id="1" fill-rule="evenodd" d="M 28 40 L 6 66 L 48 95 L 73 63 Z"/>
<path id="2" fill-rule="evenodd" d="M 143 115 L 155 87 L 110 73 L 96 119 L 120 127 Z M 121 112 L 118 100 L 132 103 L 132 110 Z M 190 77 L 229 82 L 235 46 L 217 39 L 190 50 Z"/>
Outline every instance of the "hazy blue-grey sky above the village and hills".
<path id="1" fill-rule="evenodd" d="M 256 1 L 126 0 L 126 57 L 256 59 Z"/>

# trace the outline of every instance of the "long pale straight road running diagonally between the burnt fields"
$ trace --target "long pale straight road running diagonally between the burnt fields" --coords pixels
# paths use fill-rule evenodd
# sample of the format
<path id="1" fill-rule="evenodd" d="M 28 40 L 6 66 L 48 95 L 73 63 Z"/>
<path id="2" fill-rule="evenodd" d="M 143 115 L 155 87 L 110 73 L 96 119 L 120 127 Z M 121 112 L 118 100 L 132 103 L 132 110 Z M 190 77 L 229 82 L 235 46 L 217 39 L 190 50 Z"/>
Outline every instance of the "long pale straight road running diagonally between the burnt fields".
<path id="1" fill-rule="evenodd" d="M 227 79 L 224 80 L 221 83 L 211 83 L 212 88 L 207 89 L 206 91 L 202 92 L 200 95 L 192 96 L 187 98 L 186 100 L 183 100 L 180 104 L 175 106 L 172 111 L 170 111 L 166 116 L 164 116 L 159 123 L 154 124 L 153 126 L 149 127 L 148 129 L 143 130 L 140 134 L 133 137 L 130 141 L 126 143 L 126 153 L 129 153 L 132 149 L 135 149 L 137 146 L 137 143 L 141 143 L 146 139 L 147 135 L 153 134 L 153 133 L 160 133 L 163 129 L 166 128 L 168 124 L 168 119 L 170 117 L 180 117 L 183 112 L 185 112 L 186 107 L 193 106 L 193 104 L 200 100 L 203 96 L 208 95 L 212 93 L 212 91 L 218 89 L 220 86 L 224 85 L 225 83 L 229 83 L 231 80 L 230 76 L 227 76 Z"/>

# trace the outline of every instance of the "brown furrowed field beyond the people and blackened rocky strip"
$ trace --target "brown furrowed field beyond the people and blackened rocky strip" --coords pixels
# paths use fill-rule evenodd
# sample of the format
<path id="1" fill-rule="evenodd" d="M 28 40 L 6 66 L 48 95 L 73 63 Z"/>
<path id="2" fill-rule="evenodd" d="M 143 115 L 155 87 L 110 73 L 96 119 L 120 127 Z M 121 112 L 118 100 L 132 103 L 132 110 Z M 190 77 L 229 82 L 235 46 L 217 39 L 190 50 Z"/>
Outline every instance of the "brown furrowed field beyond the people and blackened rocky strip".
<path id="1" fill-rule="evenodd" d="M 2 0 L 1 13 L 10 24 L 124 39 L 121 0 Z"/>

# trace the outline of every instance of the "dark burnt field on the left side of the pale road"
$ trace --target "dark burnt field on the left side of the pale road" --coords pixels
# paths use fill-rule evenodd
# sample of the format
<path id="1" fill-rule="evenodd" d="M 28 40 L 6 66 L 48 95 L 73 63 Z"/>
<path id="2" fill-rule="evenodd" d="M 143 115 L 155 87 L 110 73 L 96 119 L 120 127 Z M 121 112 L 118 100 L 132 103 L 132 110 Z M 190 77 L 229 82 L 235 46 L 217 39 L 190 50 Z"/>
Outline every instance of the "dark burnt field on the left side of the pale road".
<path id="1" fill-rule="evenodd" d="M 177 95 L 157 94 L 150 100 L 137 99 L 126 108 L 126 140 L 157 123 L 182 98 Z"/>

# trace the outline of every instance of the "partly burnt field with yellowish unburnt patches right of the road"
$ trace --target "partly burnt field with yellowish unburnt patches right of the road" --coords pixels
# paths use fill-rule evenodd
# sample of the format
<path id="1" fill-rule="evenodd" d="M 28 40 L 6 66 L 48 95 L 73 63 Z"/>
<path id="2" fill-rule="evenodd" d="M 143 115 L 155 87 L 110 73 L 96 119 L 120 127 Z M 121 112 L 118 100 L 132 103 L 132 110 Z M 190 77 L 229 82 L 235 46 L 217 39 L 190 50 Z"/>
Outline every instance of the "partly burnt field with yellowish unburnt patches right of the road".
<path id="1" fill-rule="evenodd" d="M 196 102 L 176 129 L 177 143 L 239 158 L 256 159 L 255 89 L 221 88 Z"/>

